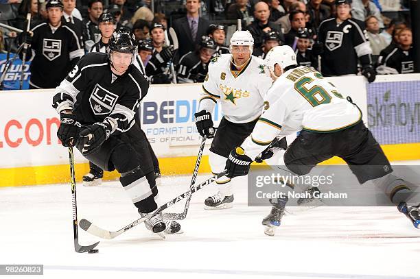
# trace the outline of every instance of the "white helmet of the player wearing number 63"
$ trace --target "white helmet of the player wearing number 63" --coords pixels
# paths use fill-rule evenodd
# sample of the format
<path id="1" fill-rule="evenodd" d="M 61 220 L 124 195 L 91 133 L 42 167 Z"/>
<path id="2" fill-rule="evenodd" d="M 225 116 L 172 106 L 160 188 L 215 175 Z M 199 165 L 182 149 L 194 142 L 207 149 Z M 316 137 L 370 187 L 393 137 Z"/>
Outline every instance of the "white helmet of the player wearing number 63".
<path id="1" fill-rule="evenodd" d="M 281 69 L 285 69 L 287 66 L 297 65 L 296 53 L 288 45 L 279 45 L 273 47 L 268 51 L 266 59 L 264 60 L 266 67 L 274 73 L 275 64 L 279 64 Z"/>

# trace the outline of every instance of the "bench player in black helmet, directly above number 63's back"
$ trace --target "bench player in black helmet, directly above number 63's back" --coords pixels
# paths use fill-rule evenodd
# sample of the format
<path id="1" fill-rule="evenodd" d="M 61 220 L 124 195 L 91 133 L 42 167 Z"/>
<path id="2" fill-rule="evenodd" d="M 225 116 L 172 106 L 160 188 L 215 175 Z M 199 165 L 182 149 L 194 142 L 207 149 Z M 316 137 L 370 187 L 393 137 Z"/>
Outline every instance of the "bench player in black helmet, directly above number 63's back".
<path id="1" fill-rule="evenodd" d="M 296 60 L 300 66 L 307 66 L 312 69 L 318 68 L 318 56 L 314 56 L 311 46 L 311 35 L 307 29 L 303 29 L 296 34 L 298 40 L 296 44 Z"/>

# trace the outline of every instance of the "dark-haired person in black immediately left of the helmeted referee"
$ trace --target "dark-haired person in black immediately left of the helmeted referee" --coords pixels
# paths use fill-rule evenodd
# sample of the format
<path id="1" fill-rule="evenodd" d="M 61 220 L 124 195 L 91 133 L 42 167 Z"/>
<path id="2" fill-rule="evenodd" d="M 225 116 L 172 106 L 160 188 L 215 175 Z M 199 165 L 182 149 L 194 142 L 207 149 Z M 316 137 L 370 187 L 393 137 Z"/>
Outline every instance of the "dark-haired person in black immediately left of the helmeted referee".
<path id="1" fill-rule="evenodd" d="M 83 20 L 83 42 L 86 51 L 91 50 L 93 45 L 100 40 L 101 32 L 97 27 L 97 19 L 102 14 L 102 0 L 89 0 L 88 18 Z"/>

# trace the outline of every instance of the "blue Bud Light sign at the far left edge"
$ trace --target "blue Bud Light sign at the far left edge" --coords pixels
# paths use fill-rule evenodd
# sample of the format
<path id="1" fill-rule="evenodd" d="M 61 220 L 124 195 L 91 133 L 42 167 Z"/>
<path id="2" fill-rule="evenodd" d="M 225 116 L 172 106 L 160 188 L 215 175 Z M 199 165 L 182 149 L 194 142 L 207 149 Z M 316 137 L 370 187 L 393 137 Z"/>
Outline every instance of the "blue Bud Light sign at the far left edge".
<path id="1" fill-rule="evenodd" d="M 10 60 L 14 58 L 16 54 L 10 53 Z M 0 71 L 3 73 L 7 62 L 7 54 L 0 53 Z M 29 89 L 30 80 L 30 62 L 25 62 L 25 68 L 23 72 L 23 86 L 22 89 Z M 3 90 L 19 90 L 22 74 L 22 60 L 16 58 L 12 65 L 9 66 L 8 72 L 5 73 L 5 79 L 3 82 Z"/>

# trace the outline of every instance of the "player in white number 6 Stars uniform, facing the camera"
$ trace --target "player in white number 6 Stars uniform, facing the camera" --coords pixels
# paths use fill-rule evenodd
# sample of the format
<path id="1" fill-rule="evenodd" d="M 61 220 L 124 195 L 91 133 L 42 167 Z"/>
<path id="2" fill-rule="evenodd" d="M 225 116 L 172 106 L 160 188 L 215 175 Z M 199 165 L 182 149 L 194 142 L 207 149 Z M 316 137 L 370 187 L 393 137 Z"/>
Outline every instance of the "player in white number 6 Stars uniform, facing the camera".
<path id="1" fill-rule="evenodd" d="M 250 32 L 236 31 L 230 43 L 231 53 L 216 56 L 209 64 L 200 105 L 195 114 L 198 132 L 207 138 L 214 136 L 209 155 L 213 173 L 224 171 L 229 151 L 240 145 L 253 131 L 271 85 L 270 77 L 264 73 L 264 60 L 251 55 L 254 40 Z M 213 134 L 211 113 L 216 103 L 222 107 L 224 117 Z M 219 191 L 205 200 L 206 209 L 232 207 L 230 181 L 226 176 L 216 181 Z"/>

